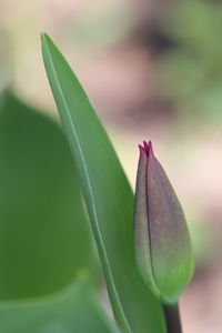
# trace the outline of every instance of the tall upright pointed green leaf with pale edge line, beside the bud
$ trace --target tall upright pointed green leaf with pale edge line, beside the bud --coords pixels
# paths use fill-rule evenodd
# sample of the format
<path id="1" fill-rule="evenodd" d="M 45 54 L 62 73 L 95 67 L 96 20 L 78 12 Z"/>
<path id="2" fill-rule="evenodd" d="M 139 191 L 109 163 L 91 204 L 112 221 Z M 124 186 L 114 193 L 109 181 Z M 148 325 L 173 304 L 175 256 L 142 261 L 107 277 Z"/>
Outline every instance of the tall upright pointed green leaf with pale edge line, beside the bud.
<path id="1" fill-rule="evenodd" d="M 115 152 L 69 64 L 47 34 L 43 59 L 81 180 L 119 325 L 124 332 L 165 332 L 160 302 L 142 282 L 132 242 L 133 194 Z"/>

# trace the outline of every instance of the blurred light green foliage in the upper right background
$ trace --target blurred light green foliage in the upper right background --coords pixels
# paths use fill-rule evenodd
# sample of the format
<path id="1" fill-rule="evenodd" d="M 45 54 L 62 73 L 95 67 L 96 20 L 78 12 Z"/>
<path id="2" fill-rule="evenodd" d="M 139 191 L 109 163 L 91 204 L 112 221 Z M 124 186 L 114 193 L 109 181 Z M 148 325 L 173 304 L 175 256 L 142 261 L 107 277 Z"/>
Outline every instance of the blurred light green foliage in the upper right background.
<path id="1" fill-rule="evenodd" d="M 172 2 L 161 29 L 176 46 L 159 63 L 163 93 L 186 112 L 212 121 L 221 119 L 222 3 Z"/>

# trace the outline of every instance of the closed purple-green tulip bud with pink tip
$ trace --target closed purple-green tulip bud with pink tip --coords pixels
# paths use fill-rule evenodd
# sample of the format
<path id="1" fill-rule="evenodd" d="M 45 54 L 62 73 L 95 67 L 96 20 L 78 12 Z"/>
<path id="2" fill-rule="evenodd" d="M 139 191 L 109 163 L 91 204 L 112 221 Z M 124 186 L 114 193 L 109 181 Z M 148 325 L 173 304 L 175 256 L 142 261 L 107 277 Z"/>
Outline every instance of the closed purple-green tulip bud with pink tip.
<path id="1" fill-rule="evenodd" d="M 137 175 L 134 249 L 144 281 L 162 303 L 175 303 L 193 273 L 192 246 L 181 204 L 143 142 Z"/>

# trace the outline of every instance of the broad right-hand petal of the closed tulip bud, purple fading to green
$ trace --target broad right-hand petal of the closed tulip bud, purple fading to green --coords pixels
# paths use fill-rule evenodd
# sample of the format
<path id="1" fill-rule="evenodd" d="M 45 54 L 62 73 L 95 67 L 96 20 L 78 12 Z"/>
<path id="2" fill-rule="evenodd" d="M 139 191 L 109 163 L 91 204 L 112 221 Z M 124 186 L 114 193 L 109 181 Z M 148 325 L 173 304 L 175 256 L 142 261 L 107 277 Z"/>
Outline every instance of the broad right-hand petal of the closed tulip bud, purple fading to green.
<path id="1" fill-rule="evenodd" d="M 193 271 L 190 235 L 181 204 L 152 149 L 147 164 L 148 221 L 154 280 L 162 297 L 178 300 Z"/>

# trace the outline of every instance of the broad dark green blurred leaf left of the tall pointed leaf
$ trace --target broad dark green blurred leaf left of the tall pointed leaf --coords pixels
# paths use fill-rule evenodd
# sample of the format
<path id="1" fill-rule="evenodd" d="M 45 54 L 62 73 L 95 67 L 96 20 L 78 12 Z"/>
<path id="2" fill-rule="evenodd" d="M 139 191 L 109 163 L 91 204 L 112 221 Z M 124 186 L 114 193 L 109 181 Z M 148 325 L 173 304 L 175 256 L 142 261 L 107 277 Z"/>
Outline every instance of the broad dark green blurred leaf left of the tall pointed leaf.
<path id="1" fill-rule="evenodd" d="M 91 270 L 91 238 L 65 138 L 10 92 L 1 100 L 0 160 L 0 299 L 52 292 Z"/>

